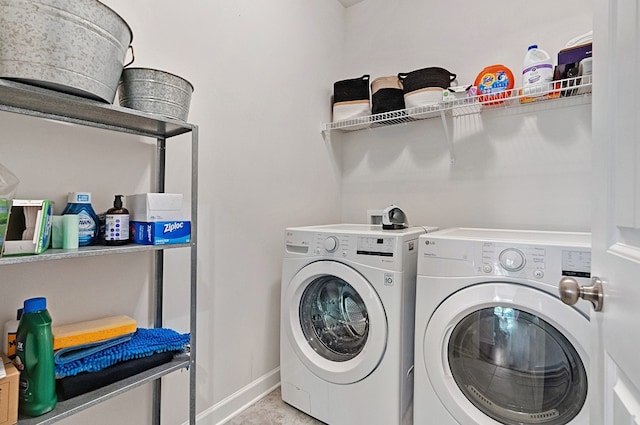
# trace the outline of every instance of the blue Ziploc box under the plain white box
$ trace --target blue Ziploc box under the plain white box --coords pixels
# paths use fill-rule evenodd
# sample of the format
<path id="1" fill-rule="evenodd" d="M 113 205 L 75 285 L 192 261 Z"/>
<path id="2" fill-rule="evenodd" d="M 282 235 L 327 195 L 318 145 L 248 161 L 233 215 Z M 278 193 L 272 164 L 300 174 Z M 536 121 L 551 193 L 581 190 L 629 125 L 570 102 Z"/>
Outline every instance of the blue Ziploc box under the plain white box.
<path id="1" fill-rule="evenodd" d="M 133 243 L 142 245 L 170 245 L 191 242 L 190 221 L 132 221 L 129 226 Z"/>

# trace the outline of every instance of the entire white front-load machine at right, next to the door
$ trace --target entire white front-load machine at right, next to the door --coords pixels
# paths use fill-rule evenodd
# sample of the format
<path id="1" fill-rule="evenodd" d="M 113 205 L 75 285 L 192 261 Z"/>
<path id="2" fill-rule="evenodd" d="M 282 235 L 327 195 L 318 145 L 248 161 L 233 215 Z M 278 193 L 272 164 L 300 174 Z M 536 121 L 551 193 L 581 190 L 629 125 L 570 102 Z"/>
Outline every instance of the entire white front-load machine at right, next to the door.
<path id="1" fill-rule="evenodd" d="M 586 425 L 589 233 L 445 229 L 419 239 L 415 425 Z"/>

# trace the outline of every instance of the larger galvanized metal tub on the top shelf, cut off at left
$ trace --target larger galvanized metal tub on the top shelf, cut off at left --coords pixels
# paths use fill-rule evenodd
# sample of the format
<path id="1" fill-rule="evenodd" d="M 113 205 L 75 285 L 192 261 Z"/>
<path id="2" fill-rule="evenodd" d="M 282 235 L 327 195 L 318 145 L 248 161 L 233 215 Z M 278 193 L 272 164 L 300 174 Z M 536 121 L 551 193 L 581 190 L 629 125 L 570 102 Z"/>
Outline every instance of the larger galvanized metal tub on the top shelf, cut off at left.
<path id="1" fill-rule="evenodd" d="M 0 0 L 0 78 L 113 103 L 132 38 L 97 0 Z"/>

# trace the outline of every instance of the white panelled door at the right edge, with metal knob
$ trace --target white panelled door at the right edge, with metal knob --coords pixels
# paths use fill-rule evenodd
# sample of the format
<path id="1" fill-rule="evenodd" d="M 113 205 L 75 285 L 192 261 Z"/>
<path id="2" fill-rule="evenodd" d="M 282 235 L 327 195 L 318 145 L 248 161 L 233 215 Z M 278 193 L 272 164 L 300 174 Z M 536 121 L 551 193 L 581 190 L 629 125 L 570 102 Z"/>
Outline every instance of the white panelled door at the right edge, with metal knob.
<path id="1" fill-rule="evenodd" d="M 602 279 L 605 298 L 592 315 L 591 424 L 639 424 L 640 97 L 629 83 L 638 78 L 640 9 L 637 0 L 593 5 L 592 275 Z"/>

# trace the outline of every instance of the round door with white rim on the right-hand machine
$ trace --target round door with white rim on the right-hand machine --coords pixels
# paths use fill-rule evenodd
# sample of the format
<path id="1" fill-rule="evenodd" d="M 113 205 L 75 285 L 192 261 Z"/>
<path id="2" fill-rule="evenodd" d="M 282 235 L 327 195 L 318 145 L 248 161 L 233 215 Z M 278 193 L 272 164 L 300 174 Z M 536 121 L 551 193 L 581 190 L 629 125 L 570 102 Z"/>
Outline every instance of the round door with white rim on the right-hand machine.
<path id="1" fill-rule="evenodd" d="M 435 311 L 423 360 L 461 424 L 587 423 L 588 332 L 582 314 L 546 292 L 479 284 Z"/>

